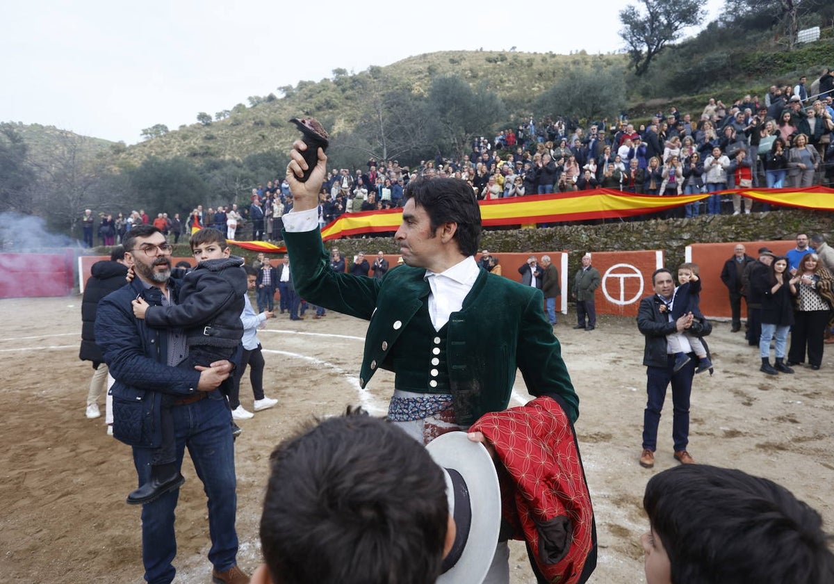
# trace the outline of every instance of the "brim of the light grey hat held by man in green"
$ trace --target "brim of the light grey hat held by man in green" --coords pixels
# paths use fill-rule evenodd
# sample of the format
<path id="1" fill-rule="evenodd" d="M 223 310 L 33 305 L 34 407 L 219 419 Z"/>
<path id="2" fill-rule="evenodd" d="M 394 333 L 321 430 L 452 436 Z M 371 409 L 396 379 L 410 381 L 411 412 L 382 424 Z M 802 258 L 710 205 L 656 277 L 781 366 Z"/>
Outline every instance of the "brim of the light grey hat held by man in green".
<path id="1" fill-rule="evenodd" d="M 437 584 L 480 583 L 484 581 L 495 556 L 501 524 L 501 493 L 495 463 L 485 446 L 470 441 L 466 432 L 440 435 L 426 449 L 439 466 L 455 469 L 463 477 L 472 511 L 464 551 L 455 566 L 440 575 Z"/>

